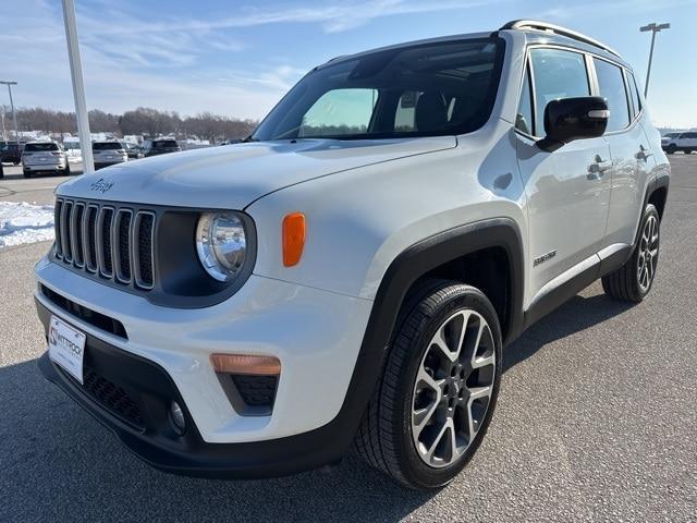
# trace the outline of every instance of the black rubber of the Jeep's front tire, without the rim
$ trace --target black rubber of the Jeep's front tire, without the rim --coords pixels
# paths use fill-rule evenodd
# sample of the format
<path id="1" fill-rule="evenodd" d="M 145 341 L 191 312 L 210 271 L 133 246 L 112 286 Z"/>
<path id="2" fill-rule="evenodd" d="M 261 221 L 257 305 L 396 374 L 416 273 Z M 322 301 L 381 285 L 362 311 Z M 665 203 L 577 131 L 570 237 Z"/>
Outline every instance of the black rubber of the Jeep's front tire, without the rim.
<path id="1" fill-rule="evenodd" d="M 416 375 L 433 335 L 458 311 L 478 313 L 489 325 L 496 356 L 491 396 L 478 429 L 466 450 L 444 467 L 427 464 L 412 433 L 412 399 Z M 400 313 L 382 378 L 364 414 L 355 448 L 371 466 L 413 489 L 432 489 L 450 483 L 467 464 L 484 438 L 494 411 L 501 380 L 502 336 L 493 306 L 481 291 L 456 281 L 428 280 L 418 285 Z M 445 399 L 447 400 L 447 399 Z"/>

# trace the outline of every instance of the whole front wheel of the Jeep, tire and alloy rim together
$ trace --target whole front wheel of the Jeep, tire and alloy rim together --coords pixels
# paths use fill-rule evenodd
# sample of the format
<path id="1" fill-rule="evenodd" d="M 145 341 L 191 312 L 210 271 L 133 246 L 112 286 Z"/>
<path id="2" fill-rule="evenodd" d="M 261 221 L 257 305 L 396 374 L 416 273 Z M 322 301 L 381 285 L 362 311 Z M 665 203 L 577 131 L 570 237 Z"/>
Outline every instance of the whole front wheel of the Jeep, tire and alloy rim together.
<path id="1" fill-rule="evenodd" d="M 501 379 L 499 318 L 478 289 L 429 280 L 407 299 L 396 325 L 356 449 L 406 487 L 441 487 L 472 459 L 491 421 Z"/>

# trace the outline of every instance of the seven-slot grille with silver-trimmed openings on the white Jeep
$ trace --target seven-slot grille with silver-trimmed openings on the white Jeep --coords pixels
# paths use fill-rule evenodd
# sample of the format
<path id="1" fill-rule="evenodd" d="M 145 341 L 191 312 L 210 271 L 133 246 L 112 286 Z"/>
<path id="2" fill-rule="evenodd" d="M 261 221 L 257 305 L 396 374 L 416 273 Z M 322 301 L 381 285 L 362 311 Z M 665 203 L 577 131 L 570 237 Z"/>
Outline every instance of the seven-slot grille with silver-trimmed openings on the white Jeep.
<path id="1" fill-rule="evenodd" d="M 59 198 L 56 258 L 137 289 L 155 287 L 155 212 Z"/>

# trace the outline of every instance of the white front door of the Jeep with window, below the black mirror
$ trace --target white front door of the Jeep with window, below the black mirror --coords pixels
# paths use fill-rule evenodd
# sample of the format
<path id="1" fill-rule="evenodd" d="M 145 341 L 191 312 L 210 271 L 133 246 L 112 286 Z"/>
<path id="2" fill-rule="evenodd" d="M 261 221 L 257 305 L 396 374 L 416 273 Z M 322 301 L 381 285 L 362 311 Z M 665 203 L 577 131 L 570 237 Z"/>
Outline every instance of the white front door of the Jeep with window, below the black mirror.
<path id="1" fill-rule="evenodd" d="M 517 161 L 527 195 L 530 267 L 526 304 L 592 267 L 603 243 L 610 202 L 610 148 L 604 138 L 577 139 L 554 151 L 535 145 L 545 136 L 547 104 L 590 95 L 588 60 L 567 49 L 529 51 L 516 118 Z"/>

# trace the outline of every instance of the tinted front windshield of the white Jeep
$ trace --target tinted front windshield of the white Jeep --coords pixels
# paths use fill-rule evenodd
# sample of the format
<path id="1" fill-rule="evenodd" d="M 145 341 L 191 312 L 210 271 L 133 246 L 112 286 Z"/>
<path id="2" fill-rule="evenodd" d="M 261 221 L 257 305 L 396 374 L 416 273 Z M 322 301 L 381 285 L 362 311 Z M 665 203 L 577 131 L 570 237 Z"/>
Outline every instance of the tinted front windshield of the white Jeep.
<path id="1" fill-rule="evenodd" d="M 255 141 L 463 134 L 488 120 L 501 73 L 499 38 L 421 44 L 329 63 L 305 76 Z"/>

